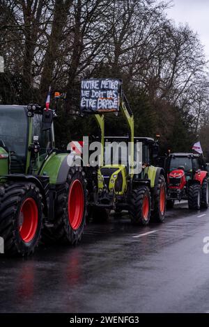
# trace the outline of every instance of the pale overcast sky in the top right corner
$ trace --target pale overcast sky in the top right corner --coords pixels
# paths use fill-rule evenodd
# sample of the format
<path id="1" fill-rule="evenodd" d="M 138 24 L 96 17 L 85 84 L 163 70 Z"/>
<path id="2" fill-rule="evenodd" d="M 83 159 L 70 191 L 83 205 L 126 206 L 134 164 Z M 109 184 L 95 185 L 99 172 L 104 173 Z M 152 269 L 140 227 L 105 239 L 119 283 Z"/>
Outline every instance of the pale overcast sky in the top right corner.
<path id="1" fill-rule="evenodd" d="M 209 0 L 173 0 L 167 14 L 176 24 L 188 23 L 199 34 L 209 59 Z"/>

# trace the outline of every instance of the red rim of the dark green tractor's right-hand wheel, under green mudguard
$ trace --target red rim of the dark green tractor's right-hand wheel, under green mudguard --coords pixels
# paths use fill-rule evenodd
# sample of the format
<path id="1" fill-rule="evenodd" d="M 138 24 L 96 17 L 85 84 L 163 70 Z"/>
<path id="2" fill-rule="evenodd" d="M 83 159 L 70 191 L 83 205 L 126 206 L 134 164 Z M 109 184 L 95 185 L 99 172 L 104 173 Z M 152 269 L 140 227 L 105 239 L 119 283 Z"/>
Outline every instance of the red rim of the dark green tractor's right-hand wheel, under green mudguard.
<path id="1" fill-rule="evenodd" d="M 84 214 L 84 190 L 79 180 L 72 182 L 68 196 L 68 218 L 73 230 L 82 223 Z"/>

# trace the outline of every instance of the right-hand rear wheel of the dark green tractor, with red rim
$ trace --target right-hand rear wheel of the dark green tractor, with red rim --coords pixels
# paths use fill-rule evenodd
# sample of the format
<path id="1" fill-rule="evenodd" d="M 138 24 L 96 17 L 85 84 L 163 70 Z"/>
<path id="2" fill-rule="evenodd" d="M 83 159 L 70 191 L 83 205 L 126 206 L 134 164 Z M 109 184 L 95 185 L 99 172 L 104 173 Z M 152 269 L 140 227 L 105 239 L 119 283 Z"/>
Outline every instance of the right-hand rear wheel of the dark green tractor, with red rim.
<path id="1" fill-rule="evenodd" d="M 44 243 L 59 241 L 63 244 L 77 244 L 82 238 L 86 223 L 86 182 L 82 167 L 70 168 L 68 178 L 57 192 L 54 204 L 54 226 L 45 227 L 42 233 Z"/>

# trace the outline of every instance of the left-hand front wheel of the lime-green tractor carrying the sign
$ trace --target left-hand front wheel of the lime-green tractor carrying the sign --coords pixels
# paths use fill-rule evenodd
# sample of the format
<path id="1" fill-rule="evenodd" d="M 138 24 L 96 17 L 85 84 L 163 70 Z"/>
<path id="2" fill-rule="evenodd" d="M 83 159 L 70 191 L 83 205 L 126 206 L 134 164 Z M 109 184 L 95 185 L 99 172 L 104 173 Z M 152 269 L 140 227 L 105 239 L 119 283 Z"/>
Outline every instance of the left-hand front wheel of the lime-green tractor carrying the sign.
<path id="1" fill-rule="evenodd" d="M 132 223 L 148 225 L 150 221 L 151 198 L 150 190 L 141 186 L 132 190 L 129 201 L 129 214 Z"/>

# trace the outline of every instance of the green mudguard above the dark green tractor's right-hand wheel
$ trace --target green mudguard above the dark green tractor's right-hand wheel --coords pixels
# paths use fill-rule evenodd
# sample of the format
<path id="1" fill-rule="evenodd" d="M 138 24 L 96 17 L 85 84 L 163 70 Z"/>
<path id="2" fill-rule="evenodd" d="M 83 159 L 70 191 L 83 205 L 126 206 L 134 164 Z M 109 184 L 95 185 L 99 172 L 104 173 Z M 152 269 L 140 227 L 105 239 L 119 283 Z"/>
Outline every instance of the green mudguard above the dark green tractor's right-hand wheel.
<path id="1" fill-rule="evenodd" d="M 52 153 L 42 166 L 39 175 L 49 176 L 50 184 L 63 184 L 66 182 L 69 169 L 77 162 L 82 166 L 82 159 L 77 154 Z"/>

